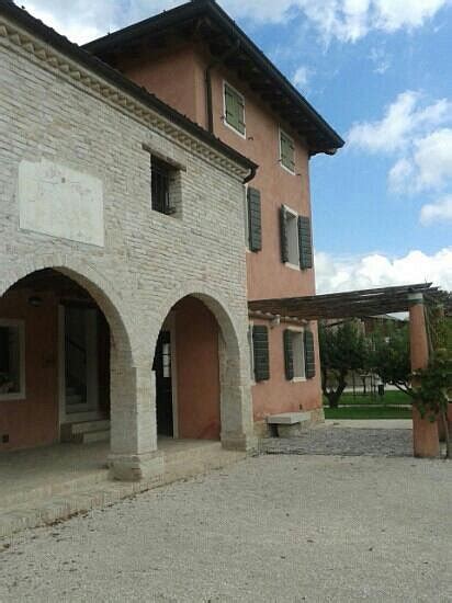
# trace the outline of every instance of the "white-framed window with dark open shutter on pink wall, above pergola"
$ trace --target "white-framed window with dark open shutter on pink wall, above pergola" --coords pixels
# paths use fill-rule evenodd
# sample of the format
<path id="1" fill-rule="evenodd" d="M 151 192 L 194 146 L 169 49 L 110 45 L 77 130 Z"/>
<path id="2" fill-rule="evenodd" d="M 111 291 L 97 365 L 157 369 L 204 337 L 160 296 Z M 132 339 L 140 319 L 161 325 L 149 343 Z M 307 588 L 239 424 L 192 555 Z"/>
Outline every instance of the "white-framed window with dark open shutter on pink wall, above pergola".
<path id="1" fill-rule="evenodd" d="M 285 205 L 280 209 L 281 261 L 291 268 L 313 268 L 310 219 Z"/>

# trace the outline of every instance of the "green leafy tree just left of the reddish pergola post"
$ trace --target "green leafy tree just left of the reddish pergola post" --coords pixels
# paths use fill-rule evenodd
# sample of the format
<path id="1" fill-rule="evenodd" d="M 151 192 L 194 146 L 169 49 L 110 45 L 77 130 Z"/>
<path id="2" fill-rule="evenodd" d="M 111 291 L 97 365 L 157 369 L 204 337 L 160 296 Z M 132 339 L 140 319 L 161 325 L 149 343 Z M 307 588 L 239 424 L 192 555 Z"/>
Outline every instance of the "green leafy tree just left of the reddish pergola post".
<path id="1" fill-rule="evenodd" d="M 385 334 L 376 331 L 372 335 L 372 348 L 369 362 L 374 372 L 384 383 L 413 397 L 408 325 L 392 327 Z"/>

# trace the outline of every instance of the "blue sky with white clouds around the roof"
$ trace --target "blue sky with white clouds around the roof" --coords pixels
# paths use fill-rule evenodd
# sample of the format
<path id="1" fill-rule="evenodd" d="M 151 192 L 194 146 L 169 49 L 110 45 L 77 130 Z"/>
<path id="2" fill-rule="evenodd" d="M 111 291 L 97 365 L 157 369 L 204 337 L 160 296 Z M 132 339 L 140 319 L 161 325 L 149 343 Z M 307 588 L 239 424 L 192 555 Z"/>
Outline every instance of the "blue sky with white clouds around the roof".
<path id="1" fill-rule="evenodd" d="M 177 0 L 21 0 L 83 43 Z M 452 0 L 218 2 L 346 140 L 310 161 L 317 291 L 452 291 Z"/>

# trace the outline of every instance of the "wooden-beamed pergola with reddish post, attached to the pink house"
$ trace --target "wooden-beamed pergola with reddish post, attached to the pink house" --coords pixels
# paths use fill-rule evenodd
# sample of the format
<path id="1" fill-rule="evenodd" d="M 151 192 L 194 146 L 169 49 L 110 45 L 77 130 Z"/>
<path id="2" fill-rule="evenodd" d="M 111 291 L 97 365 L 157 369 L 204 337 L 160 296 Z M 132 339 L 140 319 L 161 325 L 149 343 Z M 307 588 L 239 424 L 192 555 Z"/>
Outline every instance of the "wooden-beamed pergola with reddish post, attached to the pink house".
<path id="1" fill-rule="evenodd" d="M 252 316 L 282 317 L 285 320 L 321 320 L 363 318 L 392 312 L 409 312 L 411 371 L 425 368 L 429 360 L 426 327 L 426 304 L 442 304 L 452 315 L 451 296 L 431 283 L 362 289 L 327 295 L 256 299 L 248 303 Z M 413 408 L 414 454 L 420 457 L 439 455 L 438 424 L 422 419 Z"/>

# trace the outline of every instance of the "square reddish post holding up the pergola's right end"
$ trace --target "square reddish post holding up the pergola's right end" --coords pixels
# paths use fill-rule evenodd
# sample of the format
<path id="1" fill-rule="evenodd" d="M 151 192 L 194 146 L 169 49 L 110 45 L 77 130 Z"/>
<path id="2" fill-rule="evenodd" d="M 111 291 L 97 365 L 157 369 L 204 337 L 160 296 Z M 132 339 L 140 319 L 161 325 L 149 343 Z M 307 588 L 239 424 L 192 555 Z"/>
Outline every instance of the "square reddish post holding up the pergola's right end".
<path id="1" fill-rule="evenodd" d="M 423 296 L 421 293 L 410 294 L 408 300 L 411 371 L 418 371 L 426 368 L 429 362 Z M 436 458 L 440 454 L 437 421 L 430 422 L 428 419 L 422 419 L 415 406 L 413 406 L 413 447 L 415 456 L 421 458 Z"/>

